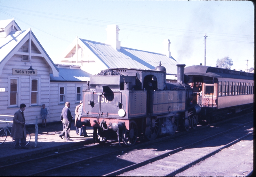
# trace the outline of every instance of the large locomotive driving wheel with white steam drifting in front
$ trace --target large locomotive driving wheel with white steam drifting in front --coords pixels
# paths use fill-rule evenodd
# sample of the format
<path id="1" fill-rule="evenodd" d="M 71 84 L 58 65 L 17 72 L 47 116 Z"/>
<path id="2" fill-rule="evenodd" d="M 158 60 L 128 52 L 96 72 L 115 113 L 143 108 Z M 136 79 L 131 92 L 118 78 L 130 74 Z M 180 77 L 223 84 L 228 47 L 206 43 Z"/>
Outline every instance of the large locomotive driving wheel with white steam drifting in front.
<path id="1" fill-rule="evenodd" d="M 173 135 L 176 132 L 178 125 L 178 116 L 164 117 L 164 127 L 162 128 L 162 132 L 165 131 L 165 133 Z"/>

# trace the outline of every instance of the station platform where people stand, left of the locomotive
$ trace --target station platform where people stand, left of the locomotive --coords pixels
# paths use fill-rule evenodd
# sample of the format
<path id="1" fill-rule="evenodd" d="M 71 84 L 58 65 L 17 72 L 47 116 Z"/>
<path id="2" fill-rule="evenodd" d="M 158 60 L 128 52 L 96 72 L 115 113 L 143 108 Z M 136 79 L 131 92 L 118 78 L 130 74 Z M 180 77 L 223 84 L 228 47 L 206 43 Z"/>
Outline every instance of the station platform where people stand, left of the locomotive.
<path id="1" fill-rule="evenodd" d="M 7 134 L 7 139 L 3 144 L 0 144 L 0 163 L 13 159 L 20 159 L 33 154 L 39 154 L 42 152 L 58 150 L 62 148 L 72 147 L 78 144 L 90 144 L 93 143 L 93 128 L 86 127 L 87 135 L 90 137 L 85 138 L 76 134 L 76 127 L 74 126 L 74 119 L 71 123 L 70 139 L 67 141 L 65 138 L 59 137 L 60 132 L 63 130 L 62 122 L 47 123 L 46 127 L 42 127 L 42 124 L 38 124 L 38 136 L 37 146 L 35 147 L 35 125 L 26 125 L 26 130 L 31 135 L 31 140 L 26 146 L 28 149 L 14 149 L 14 142 Z"/>

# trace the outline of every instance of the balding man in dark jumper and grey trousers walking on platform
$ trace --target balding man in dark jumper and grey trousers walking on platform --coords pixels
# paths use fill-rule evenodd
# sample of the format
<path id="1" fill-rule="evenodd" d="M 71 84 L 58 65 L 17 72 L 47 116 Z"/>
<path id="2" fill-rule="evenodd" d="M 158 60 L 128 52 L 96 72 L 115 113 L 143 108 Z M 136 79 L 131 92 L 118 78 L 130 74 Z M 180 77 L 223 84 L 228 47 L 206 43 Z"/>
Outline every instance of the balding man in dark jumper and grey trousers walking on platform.
<path id="1" fill-rule="evenodd" d="M 72 141 L 69 136 L 69 131 L 71 128 L 71 121 L 73 116 L 71 115 L 71 112 L 68 108 L 70 108 L 70 103 L 66 102 L 65 107 L 62 109 L 62 112 L 60 115 L 61 121 L 63 124 L 63 131 L 60 133 L 59 137 L 63 139 L 62 137 L 65 135 L 67 141 Z"/>

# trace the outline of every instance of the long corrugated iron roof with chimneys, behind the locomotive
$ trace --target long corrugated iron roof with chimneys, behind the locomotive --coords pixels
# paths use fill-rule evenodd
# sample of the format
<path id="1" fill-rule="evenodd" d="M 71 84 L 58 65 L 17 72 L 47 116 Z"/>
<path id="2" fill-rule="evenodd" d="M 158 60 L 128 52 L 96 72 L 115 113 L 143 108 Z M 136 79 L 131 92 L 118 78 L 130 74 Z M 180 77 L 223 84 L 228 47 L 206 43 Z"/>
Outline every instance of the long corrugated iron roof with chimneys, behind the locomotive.
<path id="1" fill-rule="evenodd" d="M 80 39 L 80 38 L 79 38 Z M 147 52 L 127 47 L 115 50 L 112 46 L 100 42 L 80 39 L 108 68 L 154 69 L 159 66 L 166 68 L 167 74 L 177 74 L 178 62 L 164 54 Z"/>

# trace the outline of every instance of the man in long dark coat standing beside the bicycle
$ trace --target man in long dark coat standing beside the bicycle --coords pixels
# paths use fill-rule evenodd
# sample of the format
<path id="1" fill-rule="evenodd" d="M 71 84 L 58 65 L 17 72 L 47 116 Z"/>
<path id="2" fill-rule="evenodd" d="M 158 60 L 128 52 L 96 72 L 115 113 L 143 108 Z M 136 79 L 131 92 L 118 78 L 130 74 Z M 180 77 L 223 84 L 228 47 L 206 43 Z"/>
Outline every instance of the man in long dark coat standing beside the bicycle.
<path id="1" fill-rule="evenodd" d="M 28 149 L 28 147 L 25 146 L 27 138 L 25 117 L 23 113 L 25 109 L 26 105 L 21 103 L 20 109 L 14 113 L 11 137 L 15 138 L 15 149 Z M 19 146 L 20 142 L 21 146 Z"/>

